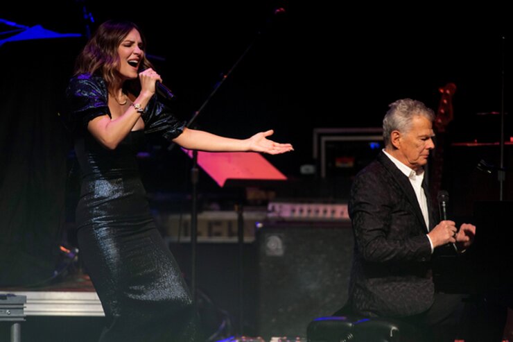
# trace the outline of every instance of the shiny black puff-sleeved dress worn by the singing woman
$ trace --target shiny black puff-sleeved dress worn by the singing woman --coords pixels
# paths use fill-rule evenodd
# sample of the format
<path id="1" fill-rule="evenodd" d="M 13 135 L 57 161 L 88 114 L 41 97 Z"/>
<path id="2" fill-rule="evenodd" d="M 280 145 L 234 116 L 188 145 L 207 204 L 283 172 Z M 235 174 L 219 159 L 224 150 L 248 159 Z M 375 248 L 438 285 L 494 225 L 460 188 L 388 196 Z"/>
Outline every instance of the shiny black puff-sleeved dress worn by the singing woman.
<path id="1" fill-rule="evenodd" d="M 184 123 L 154 96 L 143 114 L 145 130 L 109 150 L 87 130 L 89 120 L 110 115 L 103 79 L 72 78 L 67 100 L 82 174 L 78 247 L 107 318 L 100 340 L 199 341 L 189 289 L 156 228 L 136 158 L 145 132 L 173 139 Z"/>

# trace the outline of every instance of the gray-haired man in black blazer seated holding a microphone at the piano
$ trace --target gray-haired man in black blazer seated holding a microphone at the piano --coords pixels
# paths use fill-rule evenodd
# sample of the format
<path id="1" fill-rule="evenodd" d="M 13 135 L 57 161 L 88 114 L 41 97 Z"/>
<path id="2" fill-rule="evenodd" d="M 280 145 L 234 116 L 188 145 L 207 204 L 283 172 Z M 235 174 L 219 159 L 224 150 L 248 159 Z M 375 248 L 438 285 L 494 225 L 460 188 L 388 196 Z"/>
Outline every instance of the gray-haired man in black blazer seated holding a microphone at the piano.
<path id="1" fill-rule="evenodd" d="M 438 221 L 424 177 L 433 142 L 433 110 L 419 101 L 390 104 L 383 119 L 385 148 L 354 179 L 349 216 L 354 230 L 354 262 L 348 307 L 368 317 L 412 323 L 426 341 L 453 342 L 462 296 L 437 293 L 435 250 L 461 252 L 476 227 Z"/>

